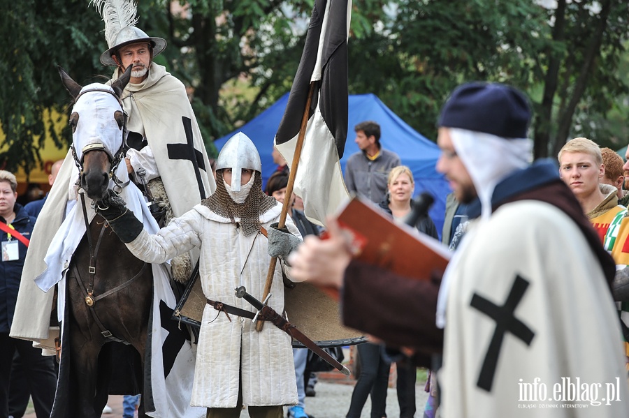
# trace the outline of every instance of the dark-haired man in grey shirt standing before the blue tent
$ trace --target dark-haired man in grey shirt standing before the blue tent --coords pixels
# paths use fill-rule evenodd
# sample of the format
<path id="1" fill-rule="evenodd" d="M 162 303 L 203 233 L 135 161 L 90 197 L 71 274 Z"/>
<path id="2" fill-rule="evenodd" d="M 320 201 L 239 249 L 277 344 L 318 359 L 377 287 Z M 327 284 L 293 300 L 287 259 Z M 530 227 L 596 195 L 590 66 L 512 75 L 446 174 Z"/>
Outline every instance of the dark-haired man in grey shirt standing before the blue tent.
<path id="1" fill-rule="evenodd" d="M 380 144 L 380 126 L 364 121 L 354 126 L 356 144 L 361 149 L 349 156 L 345 166 L 347 190 L 379 204 L 384 200 L 391 168 L 400 165 L 400 157 Z"/>

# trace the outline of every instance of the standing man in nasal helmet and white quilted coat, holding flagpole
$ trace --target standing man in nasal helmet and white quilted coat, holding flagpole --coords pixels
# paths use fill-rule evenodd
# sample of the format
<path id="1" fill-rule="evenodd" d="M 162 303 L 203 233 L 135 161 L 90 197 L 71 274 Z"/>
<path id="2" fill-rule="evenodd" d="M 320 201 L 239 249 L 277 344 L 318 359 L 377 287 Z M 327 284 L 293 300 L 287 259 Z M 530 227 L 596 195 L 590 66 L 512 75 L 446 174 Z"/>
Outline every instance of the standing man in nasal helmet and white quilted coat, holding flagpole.
<path id="1" fill-rule="evenodd" d="M 113 193 L 110 192 L 110 196 Z M 119 197 L 105 198 L 96 210 L 131 250 L 146 262 L 201 248 L 200 278 L 208 299 L 201 321 L 191 404 L 208 408 L 208 418 L 238 418 L 245 405 L 252 418 L 281 418 L 282 405 L 297 403 L 291 338 L 266 324 L 256 330 L 254 309 L 234 289 L 244 286 L 262 299 L 271 256 L 275 267 L 268 306 L 284 311 L 282 257 L 301 235 L 287 218 L 275 228 L 282 207 L 261 191 L 260 156 L 251 140 L 237 133 L 217 159 L 217 191 L 157 234 L 149 234 Z M 263 235 L 268 233 L 268 239 Z"/>

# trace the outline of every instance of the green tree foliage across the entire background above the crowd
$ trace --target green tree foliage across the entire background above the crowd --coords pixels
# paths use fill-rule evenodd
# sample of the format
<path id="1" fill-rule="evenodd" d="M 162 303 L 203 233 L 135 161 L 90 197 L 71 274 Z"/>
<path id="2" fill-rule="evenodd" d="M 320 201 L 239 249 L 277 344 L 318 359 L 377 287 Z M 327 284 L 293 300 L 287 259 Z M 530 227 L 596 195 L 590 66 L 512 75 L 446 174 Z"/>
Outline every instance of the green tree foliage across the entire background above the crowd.
<path id="1" fill-rule="evenodd" d="M 80 83 L 111 68 L 98 61 L 107 46 L 89 0 L 9 3 L 0 20 L 0 124 L 8 144 L 0 165 L 29 170 L 39 161 L 43 110 L 68 103 L 55 66 Z M 212 139 L 289 91 L 313 3 L 138 2 L 138 27 L 168 41 L 155 60 L 191 87 L 210 154 Z M 607 115 L 627 114 L 619 100 L 628 96 L 626 76 L 619 77 L 627 12 L 623 0 L 354 0 L 350 93 L 377 94 L 434 139 L 438 110 L 457 84 L 507 82 L 532 98 L 535 156 L 554 154 L 574 135 L 614 147 L 613 140 L 626 141 L 622 124 L 607 123 Z"/>

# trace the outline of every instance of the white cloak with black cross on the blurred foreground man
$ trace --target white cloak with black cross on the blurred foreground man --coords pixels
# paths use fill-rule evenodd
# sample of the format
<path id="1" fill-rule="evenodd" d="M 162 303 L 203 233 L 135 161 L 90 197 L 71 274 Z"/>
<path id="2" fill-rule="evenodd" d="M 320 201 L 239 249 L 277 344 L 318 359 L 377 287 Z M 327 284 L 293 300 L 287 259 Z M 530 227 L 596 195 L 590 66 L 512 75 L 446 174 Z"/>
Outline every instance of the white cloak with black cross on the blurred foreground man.
<path id="1" fill-rule="evenodd" d="M 629 417 L 618 316 L 577 224 L 532 200 L 480 222 L 451 272 L 440 416 Z"/>

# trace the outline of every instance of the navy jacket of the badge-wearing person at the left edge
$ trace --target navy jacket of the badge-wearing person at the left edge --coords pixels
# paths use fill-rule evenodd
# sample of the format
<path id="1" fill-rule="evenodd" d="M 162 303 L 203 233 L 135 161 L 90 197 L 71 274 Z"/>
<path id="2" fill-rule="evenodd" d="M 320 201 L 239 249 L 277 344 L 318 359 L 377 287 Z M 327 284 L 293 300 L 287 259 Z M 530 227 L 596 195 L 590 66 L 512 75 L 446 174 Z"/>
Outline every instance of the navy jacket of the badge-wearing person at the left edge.
<path id="1" fill-rule="evenodd" d="M 35 218 L 29 216 L 26 209 L 16 203 L 13 207 L 15 211 L 15 219 L 11 223 L 17 232 L 24 235 L 24 238 L 31 239 Z M 0 216 L 0 222 L 6 223 L 4 218 Z M 0 241 L 2 243 L 8 241 L 8 234 L 0 231 Z M 17 241 L 15 237 L 11 237 L 11 241 Z M 20 258 L 14 261 L 0 261 L 0 333 L 6 333 L 11 329 L 13 322 L 13 313 L 15 312 L 15 303 L 17 301 L 17 290 L 20 288 L 20 278 L 22 277 L 22 267 L 24 267 L 24 258 L 26 258 L 27 247 L 20 241 L 17 241 L 20 251 Z"/>

